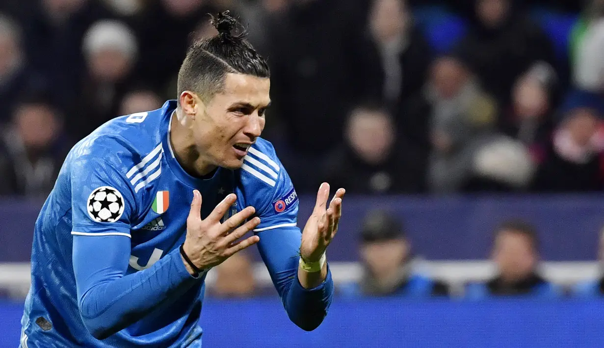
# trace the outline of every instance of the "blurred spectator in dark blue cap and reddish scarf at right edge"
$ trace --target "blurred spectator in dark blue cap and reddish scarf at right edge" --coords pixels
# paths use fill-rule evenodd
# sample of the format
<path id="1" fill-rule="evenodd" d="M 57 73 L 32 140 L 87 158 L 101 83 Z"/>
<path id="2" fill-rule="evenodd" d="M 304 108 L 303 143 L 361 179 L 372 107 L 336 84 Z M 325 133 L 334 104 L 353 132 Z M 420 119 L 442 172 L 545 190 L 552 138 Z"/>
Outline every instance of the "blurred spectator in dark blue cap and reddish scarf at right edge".
<path id="1" fill-rule="evenodd" d="M 602 99 L 587 92 L 571 93 L 562 106 L 562 121 L 553 134 L 534 189 L 548 192 L 601 191 L 604 188 Z"/>

